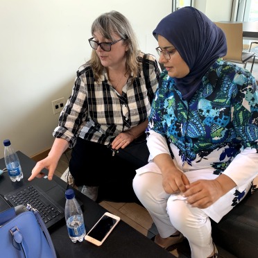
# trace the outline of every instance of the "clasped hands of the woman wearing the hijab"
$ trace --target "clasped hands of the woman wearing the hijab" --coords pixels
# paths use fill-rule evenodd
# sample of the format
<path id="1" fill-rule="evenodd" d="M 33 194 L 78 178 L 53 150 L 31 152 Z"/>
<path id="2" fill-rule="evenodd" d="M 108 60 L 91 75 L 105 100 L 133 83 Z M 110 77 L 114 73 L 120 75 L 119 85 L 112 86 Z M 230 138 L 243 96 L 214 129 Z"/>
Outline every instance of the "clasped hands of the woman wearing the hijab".
<path id="1" fill-rule="evenodd" d="M 205 209 L 223 196 L 221 184 L 217 180 L 196 180 L 190 183 L 187 175 L 178 169 L 162 175 L 166 193 L 181 193 L 191 207 Z"/>

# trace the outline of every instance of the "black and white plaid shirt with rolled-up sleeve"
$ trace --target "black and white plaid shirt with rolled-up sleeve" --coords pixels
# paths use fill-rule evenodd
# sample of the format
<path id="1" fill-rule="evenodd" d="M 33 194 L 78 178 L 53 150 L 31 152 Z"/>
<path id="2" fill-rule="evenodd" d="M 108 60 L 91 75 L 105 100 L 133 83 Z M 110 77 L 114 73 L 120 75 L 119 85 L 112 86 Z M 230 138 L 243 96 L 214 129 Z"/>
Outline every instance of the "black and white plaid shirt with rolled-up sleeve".
<path id="1" fill-rule="evenodd" d="M 149 97 L 153 98 L 157 88 L 160 67 L 155 56 L 146 56 L 146 74 L 150 82 L 149 87 L 146 87 L 142 67 L 143 55 L 141 53 L 139 58 L 139 76 L 133 83 L 132 76 L 128 78 L 122 95 L 112 87 L 106 71 L 101 76 L 101 83 L 98 83 L 94 80 L 92 68 L 81 66 L 53 136 L 69 141 L 70 148 L 76 144 L 78 136 L 106 145 L 120 132 L 146 121 L 150 114 Z"/>

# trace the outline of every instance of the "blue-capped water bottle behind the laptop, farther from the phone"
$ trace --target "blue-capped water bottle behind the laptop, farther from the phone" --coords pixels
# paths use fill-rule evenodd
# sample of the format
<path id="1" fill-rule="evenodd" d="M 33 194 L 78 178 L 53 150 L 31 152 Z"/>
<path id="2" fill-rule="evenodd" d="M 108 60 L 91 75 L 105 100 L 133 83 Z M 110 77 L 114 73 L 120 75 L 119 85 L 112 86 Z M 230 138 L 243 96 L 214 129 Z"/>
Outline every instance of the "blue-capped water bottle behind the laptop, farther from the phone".
<path id="1" fill-rule="evenodd" d="M 24 178 L 24 174 L 22 173 L 22 167 L 19 164 L 19 157 L 10 145 L 9 139 L 5 139 L 3 141 L 3 146 L 4 160 L 6 162 L 6 168 L 8 169 L 10 180 L 12 180 L 12 182 L 20 181 L 22 178 Z"/>

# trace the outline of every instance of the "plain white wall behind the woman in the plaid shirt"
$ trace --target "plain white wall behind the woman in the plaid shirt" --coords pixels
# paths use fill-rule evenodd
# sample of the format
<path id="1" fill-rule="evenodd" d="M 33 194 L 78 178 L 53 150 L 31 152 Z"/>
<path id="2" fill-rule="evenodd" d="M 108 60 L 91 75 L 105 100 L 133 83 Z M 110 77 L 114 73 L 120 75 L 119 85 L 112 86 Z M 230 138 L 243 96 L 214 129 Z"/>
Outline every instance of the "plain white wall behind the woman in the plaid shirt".
<path id="1" fill-rule="evenodd" d="M 51 101 L 69 97 L 92 51 L 92 22 L 110 10 L 126 15 L 140 49 L 155 54 L 152 31 L 171 0 L 0 0 L 0 157 L 3 139 L 28 156 L 51 148 L 59 116 Z"/>

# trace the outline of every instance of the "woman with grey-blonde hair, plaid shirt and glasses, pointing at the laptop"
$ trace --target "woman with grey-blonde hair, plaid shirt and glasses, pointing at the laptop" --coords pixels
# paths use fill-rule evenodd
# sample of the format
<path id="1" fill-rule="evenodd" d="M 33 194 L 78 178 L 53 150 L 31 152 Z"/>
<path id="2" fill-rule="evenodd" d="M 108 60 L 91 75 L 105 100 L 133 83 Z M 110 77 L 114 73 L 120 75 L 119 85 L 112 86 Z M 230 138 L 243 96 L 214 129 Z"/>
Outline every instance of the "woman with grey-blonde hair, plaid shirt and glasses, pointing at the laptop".
<path id="1" fill-rule="evenodd" d="M 148 54 L 145 80 L 144 53 L 138 49 L 128 19 L 117 11 L 97 17 L 89 46 L 92 57 L 77 71 L 73 91 L 53 132 L 51 151 L 37 162 L 29 180 L 40 177 L 44 167 L 51 180 L 60 156 L 70 147 L 69 170 L 85 195 L 96 200 L 102 189 L 104 199 L 135 200 L 135 167 L 112 154 L 144 133 L 160 67 Z M 112 148 L 107 148 L 110 144 Z"/>

